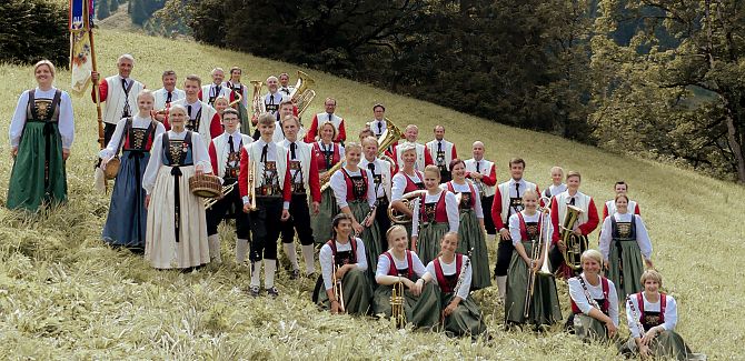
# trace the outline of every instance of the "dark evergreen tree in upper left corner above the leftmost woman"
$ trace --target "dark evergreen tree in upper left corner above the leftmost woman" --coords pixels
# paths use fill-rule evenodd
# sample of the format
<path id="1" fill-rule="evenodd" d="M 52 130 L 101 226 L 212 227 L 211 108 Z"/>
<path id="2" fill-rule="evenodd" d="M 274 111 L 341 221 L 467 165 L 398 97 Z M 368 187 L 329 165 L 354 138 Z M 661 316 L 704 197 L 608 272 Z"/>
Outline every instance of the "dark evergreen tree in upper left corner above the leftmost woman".
<path id="1" fill-rule="evenodd" d="M 0 62 L 34 63 L 48 59 L 67 68 L 68 9 L 46 0 L 0 2 Z"/>

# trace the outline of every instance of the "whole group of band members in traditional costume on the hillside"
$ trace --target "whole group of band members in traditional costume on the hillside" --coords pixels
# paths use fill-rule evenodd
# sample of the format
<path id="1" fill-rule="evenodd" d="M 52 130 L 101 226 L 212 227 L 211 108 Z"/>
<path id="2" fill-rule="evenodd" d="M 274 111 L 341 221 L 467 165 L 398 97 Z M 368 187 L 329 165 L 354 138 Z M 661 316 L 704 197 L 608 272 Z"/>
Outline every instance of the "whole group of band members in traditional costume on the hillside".
<path id="1" fill-rule="evenodd" d="M 279 294 L 279 239 L 290 279 L 316 277 L 320 245 L 312 292 L 320 307 L 390 317 L 391 293 L 404 290 L 397 307 L 408 323 L 478 335 L 486 327 L 470 293 L 491 285 L 487 242 L 496 241 L 494 280 L 507 325 L 559 322 L 555 278 L 564 277 L 567 325 L 577 334 L 614 338 L 623 302 L 633 335 L 627 352 L 689 353 L 673 332 L 675 300 L 659 292 L 649 235 L 625 182 L 615 184 L 600 219 L 593 198 L 579 191 L 579 172 L 552 168 L 553 183 L 540 192 L 523 178 L 525 160 L 514 158 L 509 180 L 497 183 L 484 142 L 474 142 L 473 158 L 463 160 L 443 126 L 427 143 L 408 124 L 383 144 L 395 131 L 383 104 L 372 107 L 359 140 L 348 140 L 334 98 L 304 128 L 286 73 L 267 79 L 269 92 L 257 106 L 239 68 L 227 82 L 216 68 L 206 86 L 188 76 L 183 90 L 168 70 L 163 88 L 150 91 L 131 78 L 133 66 L 125 54 L 116 76 L 91 76 L 92 98 L 105 102 L 100 167 L 120 161 L 102 239 L 143 251 L 153 268 L 221 262 L 218 225 L 232 218 L 236 261 L 248 255 L 252 297 L 262 293 L 261 267 L 264 291 Z M 34 76 L 38 87 L 22 93 L 10 127 L 16 162 L 7 201 L 31 211 L 66 201 L 64 160 L 74 133 L 70 98 L 52 84 L 54 67 L 40 61 Z M 189 179 L 210 173 L 226 192 L 206 208 Z M 578 249 L 600 224 L 599 251 Z"/>

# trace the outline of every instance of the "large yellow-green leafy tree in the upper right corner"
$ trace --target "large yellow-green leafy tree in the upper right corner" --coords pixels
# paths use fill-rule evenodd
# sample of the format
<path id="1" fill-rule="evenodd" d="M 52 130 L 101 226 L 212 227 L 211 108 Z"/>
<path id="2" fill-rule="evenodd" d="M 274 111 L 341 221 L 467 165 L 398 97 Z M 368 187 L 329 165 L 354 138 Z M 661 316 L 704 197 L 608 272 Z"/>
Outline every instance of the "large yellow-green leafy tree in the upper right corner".
<path id="1" fill-rule="evenodd" d="M 610 33 L 628 19 L 624 7 L 640 22 L 618 44 Z M 599 142 L 745 182 L 745 4 L 604 0 L 600 12 L 592 64 Z"/>

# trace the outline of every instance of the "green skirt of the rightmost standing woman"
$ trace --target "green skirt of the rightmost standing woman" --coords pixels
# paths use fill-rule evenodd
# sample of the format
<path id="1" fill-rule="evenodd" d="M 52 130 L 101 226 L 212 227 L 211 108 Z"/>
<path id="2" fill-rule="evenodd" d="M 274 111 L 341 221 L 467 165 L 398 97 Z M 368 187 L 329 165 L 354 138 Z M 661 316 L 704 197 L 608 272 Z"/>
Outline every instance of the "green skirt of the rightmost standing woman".
<path id="1" fill-rule="evenodd" d="M 636 241 L 622 241 L 620 252 L 616 245 L 616 241 L 610 242 L 610 254 L 608 257 L 608 279 L 616 285 L 618 300 L 623 301 L 627 294 L 634 294 L 642 291 L 642 283 L 639 279 L 644 273 L 644 262 L 642 261 L 642 250 Z M 618 269 L 618 260 L 623 257 L 624 260 L 624 275 L 623 282 L 620 280 L 620 270 Z"/>

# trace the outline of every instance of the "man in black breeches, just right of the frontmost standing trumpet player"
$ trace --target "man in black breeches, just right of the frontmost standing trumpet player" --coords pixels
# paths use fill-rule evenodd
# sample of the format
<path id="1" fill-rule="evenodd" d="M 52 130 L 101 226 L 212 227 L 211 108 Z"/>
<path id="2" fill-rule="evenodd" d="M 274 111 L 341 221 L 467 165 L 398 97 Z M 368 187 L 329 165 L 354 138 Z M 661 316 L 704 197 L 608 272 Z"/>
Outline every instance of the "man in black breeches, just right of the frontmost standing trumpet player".
<path id="1" fill-rule="evenodd" d="M 289 101 L 288 101 L 289 102 Z M 289 102 L 291 104 L 291 102 Z M 312 161 L 312 147 L 298 139 L 300 122 L 298 118 L 287 114 L 282 118 L 282 130 L 285 139 L 280 142 L 287 152 L 288 168 L 290 170 L 290 184 L 292 187 L 292 200 L 290 201 L 290 219 L 282 227 L 282 247 L 285 254 L 292 264 L 290 279 L 300 275 L 297 253 L 295 251 L 295 231 L 297 230 L 300 245 L 302 247 L 302 259 L 306 265 L 306 275 L 316 272 L 314 263 L 314 235 L 310 229 L 310 209 L 308 209 L 308 194 L 312 205 L 312 214 L 318 214 L 320 204 L 320 180 L 318 166 Z"/>

